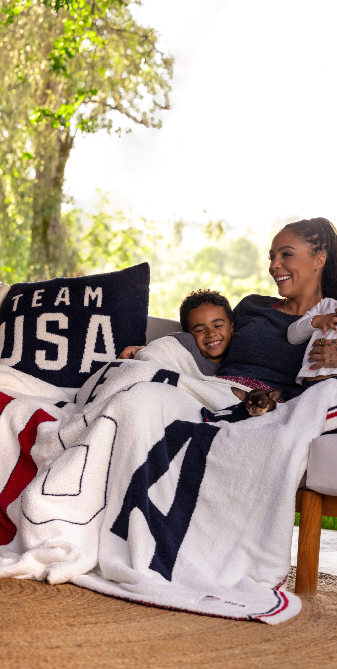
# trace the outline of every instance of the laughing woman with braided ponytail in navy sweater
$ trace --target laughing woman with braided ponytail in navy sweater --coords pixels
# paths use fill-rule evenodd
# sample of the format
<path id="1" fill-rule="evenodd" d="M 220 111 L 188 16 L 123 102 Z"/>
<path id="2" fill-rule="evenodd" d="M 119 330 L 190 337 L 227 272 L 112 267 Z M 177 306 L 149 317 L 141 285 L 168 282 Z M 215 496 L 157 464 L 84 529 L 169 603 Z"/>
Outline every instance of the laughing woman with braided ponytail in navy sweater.
<path id="1" fill-rule="evenodd" d="M 324 218 L 289 223 L 273 238 L 269 259 L 269 273 L 283 299 L 249 295 L 237 304 L 234 336 L 217 375 L 232 380 L 239 377 L 240 383 L 250 387 L 251 379 L 257 380 L 257 387 L 282 387 L 286 400 L 310 383 L 296 384 L 306 343 L 290 344 L 288 327 L 322 298 L 337 299 L 336 228 Z M 132 354 L 130 348 L 124 349 L 120 358 Z M 309 359 L 314 369 L 337 367 L 337 339 L 323 345 L 317 341 Z"/>

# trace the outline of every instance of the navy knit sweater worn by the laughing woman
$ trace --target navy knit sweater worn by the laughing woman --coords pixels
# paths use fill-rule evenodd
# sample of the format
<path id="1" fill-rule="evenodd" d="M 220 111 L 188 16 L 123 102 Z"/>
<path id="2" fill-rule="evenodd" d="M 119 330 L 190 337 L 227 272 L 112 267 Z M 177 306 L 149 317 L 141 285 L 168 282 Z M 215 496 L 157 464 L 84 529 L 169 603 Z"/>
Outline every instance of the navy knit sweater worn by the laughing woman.
<path id="1" fill-rule="evenodd" d="M 284 399 L 300 394 L 296 376 L 308 342 L 290 344 L 287 330 L 301 316 L 290 316 L 271 306 L 279 298 L 249 295 L 233 310 L 234 335 L 217 375 L 258 379 L 282 388 Z"/>

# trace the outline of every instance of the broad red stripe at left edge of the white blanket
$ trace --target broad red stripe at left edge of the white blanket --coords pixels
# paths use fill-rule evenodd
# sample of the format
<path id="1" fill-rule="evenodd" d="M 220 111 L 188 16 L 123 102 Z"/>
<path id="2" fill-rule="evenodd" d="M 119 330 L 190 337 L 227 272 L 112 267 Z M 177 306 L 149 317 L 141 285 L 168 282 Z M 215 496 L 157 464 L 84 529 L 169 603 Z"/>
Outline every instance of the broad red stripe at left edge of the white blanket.
<path id="1" fill-rule="evenodd" d="M 0 393 L 0 396 L 3 394 Z M 8 397 L 8 395 L 5 395 L 5 397 Z M 11 399 L 13 397 L 10 397 L 6 403 L 11 401 Z M 0 407 L 1 401 L 3 401 L 3 397 L 0 397 Z M 37 409 L 19 434 L 18 439 L 21 446 L 19 460 L 17 460 L 11 476 L 9 476 L 5 488 L 3 488 L 0 494 L 0 545 L 11 543 L 15 537 L 16 527 L 7 516 L 7 506 L 11 502 L 14 502 L 21 495 L 25 487 L 33 480 L 37 472 L 37 466 L 30 452 L 36 441 L 37 427 L 39 427 L 40 423 L 51 420 L 56 420 L 56 418 L 43 411 L 43 409 Z"/>

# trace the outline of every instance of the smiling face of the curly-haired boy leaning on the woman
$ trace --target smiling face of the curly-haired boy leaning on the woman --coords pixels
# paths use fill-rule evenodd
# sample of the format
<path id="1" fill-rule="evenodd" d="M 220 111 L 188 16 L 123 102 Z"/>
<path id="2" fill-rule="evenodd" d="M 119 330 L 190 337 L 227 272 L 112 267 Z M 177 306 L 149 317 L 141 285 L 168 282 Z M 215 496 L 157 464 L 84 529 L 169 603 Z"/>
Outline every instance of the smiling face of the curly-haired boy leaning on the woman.
<path id="1" fill-rule="evenodd" d="M 205 358 L 222 363 L 233 336 L 234 324 L 223 306 L 201 304 L 189 312 L 189 332 Z"/>

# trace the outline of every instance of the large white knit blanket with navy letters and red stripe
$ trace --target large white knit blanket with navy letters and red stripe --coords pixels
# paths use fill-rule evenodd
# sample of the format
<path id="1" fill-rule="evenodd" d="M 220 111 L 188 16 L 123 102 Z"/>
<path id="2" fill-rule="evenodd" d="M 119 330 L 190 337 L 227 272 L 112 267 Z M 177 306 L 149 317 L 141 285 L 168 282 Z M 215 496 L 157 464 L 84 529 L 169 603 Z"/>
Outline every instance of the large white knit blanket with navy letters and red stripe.
<path id="1" fill-rule="evenodd" d="M 203 406 L 237 402 L 230 385 L 173 337 L 106 365 L 75 403 L 1 365 L 0 577 L 268 624 L 296 615 L 296 490 L 336 381 L 203 422 Z"/>

